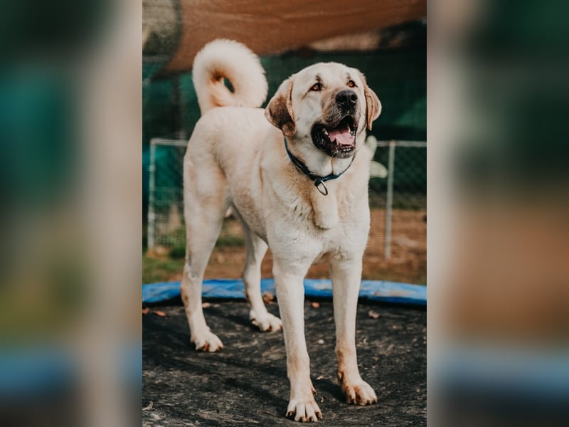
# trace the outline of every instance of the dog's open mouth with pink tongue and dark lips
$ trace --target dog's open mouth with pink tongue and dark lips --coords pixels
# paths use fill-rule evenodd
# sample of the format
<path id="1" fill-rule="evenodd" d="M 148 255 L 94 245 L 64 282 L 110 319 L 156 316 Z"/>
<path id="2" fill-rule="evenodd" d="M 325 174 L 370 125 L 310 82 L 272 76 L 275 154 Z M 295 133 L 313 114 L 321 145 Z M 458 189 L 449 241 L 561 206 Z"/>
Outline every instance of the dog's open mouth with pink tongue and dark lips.
<path id="1" fill-rule="evenodd" d="M 351 157 L 356 149 L 356 130 L 353 117 L 346 115 L 336 127 L 314 125 L 312 128 L 312 142 L 330 157 L 345 159 Z"/>

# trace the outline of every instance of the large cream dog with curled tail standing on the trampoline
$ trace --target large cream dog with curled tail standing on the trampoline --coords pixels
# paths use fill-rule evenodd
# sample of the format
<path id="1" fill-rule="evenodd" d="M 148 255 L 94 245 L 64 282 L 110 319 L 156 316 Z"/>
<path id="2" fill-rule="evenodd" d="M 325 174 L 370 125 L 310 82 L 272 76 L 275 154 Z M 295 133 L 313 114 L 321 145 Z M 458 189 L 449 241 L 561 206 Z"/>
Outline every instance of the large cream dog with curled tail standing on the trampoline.
<path id="1" fill-rule="evenodd" d="M 233 91 L 223 84 L 230 80 Z M 250 319 L 261 331 L 283 327 L 290 400 L 287 416 L 317 421 L 304 340 L 303 280 L 329 263 L 338 378 L 346 401 L 373 404 L 358 371 L 356 305 L 369 230 L 366 127 L 381 104 L 363 75 L 317 63 L 285 80 L 265 110 L 267 80 L 258 58 L 235 41 L 206 45 L 193 63 L 202 117 L 184 157 L 187 250 L 181 296 L 196 349 L 223 347 L 201 306 L 203 273 L 229 207 L 245 228 L 243 278 Z M 260 294 L 260 263 L 270 246 L 281 321 Z"/>

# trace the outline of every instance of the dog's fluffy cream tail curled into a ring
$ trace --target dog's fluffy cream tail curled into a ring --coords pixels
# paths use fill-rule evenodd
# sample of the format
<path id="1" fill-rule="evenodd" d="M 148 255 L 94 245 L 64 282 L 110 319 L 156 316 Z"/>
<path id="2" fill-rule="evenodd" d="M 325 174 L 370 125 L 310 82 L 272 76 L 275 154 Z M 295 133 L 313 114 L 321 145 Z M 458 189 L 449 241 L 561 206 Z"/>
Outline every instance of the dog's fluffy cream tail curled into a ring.
<path id="1" fill-rule="evenodd" d="M 242 43 L 221 38 L 206 44 L 194 58 L 193 87 L 202 115 L 213 107 L 260 107 L 268 90 L 265 70 L 255 53 Z"/>

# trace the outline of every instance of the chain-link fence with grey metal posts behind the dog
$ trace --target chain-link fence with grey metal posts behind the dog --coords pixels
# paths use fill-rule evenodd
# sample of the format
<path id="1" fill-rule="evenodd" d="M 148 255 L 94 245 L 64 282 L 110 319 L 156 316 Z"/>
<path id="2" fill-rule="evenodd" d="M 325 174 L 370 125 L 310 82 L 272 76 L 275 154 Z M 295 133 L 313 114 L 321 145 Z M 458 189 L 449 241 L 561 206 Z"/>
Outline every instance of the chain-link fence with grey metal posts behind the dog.
<path id="1" fill-rule="evenodd" d="M 369 139 L 368 139 L 369 142 Z M 375 141 L 374 145 L 375 145 Z M 148 247 L 184 254 L 182 164 L 186 140 L 151 139 Z M 368 252 L 377 262 L 426 268 L 426 142 L 378 141 L 371 167 L 372 229 Z M 238 223 L 225 221 L 218 246 L 243 243 Z"/>

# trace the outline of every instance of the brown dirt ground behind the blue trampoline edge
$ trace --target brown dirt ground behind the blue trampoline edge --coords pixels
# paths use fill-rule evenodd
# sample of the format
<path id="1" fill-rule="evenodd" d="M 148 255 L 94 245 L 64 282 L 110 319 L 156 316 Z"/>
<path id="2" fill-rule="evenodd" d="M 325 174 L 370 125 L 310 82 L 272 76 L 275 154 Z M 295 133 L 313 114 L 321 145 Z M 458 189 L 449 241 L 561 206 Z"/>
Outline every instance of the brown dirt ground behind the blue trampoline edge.
<path id="1" fill-rule="evenodd" d="M 383 209 L 371 210 L 371 231 L 368 247 L 363 258 L 364 280 L 391 280 L 395 282 L 427 283 L 427 213 L 426 211 L 393 211 L 391 258 L 384 257 Z M 243 236 L 239 222 L 227 218 L 220 240 L 239 239 Z M 209 260 L 206 278 L 240 278 L 245 263 L 245 248 L 240 246 L 217 246 Z M 261 265 L 262 277 L 272 277 L 270 251 Z M 312 265 L 307 278 L 328 278 L 326 264 Z M 168 280 L 181 280 L 181 270 Z"/>

